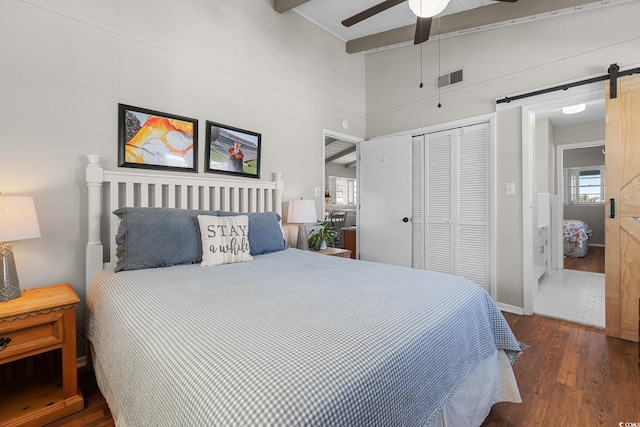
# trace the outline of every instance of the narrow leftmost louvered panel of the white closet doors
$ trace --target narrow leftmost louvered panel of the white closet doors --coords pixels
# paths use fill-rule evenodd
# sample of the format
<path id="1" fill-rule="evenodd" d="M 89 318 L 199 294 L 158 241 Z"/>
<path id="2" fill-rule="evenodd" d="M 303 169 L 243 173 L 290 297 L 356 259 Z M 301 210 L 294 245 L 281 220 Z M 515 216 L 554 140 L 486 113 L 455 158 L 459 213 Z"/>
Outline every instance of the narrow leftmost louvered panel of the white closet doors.
<path id="1" fill-rule="evenodd" d="M 424 270 L 424 135 L 411 141 L 411 268 Z"/>

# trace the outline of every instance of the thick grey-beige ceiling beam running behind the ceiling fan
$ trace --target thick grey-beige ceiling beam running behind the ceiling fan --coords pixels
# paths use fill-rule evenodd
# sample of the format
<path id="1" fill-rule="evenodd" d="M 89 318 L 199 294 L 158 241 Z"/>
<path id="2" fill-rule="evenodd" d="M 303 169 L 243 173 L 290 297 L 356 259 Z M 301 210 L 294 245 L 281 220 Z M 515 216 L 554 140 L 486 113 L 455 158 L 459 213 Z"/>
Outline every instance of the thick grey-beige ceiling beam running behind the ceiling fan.
<path id="1" fill-rule="evenodd" d="M 431 26 L 431 36 L 455 33 L 462 30 L 478 28 L 508 22 L 512 19 L 521 19 L 535 16 L 554 10 L 569 9 L 585 4 L 593 3 L 593 0 L 520 0 L 516 3 L 496 2 L 489 6 L 465 10 L 464 12 L 445 15 L 435 18 Z M 361 37 L 347 42 L 347 53 L 363 52 L 379 49 L 387 46 L 403 44 L 414 39 L 416 25 L 396 28 L 371 36 Z"/>

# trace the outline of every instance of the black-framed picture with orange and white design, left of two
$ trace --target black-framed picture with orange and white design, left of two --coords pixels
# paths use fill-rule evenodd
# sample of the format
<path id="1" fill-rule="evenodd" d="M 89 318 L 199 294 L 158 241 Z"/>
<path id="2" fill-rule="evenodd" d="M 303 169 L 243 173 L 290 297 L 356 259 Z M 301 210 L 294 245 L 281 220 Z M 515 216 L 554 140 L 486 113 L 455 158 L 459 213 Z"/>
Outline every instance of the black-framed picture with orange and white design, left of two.
<path id="1" fill-rule="evenodd" d="M 118 164 L 197 172 L 198 121 L 118 104 Z"/>

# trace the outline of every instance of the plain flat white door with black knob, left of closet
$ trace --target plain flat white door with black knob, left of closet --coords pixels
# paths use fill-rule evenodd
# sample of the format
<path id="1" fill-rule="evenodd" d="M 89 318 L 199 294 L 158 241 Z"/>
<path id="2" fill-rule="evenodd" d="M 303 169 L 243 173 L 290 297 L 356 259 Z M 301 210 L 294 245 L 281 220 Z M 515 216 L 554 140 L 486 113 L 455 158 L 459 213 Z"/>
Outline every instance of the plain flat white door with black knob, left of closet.
<path id="1" fill-rule="evenodd" d="M 411 266 L 411 135 L 358 144 L 359 258 Z"/>

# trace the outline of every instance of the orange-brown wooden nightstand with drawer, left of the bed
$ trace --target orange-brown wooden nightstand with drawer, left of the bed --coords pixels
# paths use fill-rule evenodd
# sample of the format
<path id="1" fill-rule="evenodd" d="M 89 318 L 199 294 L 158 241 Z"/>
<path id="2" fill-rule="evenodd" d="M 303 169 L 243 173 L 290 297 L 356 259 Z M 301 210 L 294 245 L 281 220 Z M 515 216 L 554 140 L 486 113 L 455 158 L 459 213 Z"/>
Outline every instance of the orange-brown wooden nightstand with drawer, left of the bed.
<path id="1" fill-rule="evenodd" d="M 0 393 L 0 426 L 41 426 L 84 407 L 76 369 L 79 302 L 65 283 L 27 289 L 20 298 L 0 303 L 0 339 L 4 342 L 0 345 L 0 365 L 51 350 L 62 351 L 61 381 L 24 381 Z"/>

